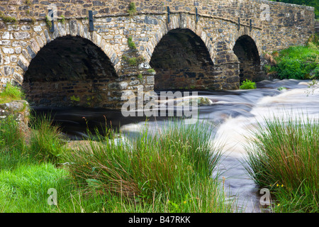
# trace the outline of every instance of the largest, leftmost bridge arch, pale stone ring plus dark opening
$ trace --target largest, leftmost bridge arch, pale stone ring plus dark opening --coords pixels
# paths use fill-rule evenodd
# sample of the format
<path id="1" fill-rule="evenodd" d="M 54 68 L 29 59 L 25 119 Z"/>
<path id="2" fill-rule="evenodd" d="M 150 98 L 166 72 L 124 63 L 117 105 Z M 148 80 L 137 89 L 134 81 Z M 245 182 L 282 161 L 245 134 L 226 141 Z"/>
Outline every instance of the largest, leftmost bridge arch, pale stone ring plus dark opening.
<path id="1" fill-rule="evenodd" d="M 116 106 L 116 53 L 96 33 L 58 31 L 35 36 L 19 56 L 18 83 L 31 106 Z"/>

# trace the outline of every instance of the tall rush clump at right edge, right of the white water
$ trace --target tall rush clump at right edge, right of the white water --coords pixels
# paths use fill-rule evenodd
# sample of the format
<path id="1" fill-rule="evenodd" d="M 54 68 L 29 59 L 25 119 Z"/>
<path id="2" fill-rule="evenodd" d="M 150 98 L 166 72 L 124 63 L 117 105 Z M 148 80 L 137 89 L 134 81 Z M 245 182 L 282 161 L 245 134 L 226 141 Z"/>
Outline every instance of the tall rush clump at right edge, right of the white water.
<path id="1" fill-rule="evenodd" d="M 270 188 L 274 211 L 319 211 L 318 120 L 266 120 L 250 145 L 247 172 L 260 187 Z"/>

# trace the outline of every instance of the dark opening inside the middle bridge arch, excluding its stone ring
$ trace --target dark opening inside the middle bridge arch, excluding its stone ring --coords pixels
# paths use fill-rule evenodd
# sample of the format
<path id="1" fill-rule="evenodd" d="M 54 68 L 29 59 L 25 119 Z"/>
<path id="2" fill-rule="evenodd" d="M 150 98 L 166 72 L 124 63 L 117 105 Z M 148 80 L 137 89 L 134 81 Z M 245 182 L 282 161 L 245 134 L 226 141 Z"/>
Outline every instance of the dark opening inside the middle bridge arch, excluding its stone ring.
<path id="1" fill-rule="evenodd" d="M 188 28 L 169 31 L 157 44 L 150 66 L 155 90 L 207 89 L 205 78 L 213 74 L 213 61 L 203 40 Z"/>

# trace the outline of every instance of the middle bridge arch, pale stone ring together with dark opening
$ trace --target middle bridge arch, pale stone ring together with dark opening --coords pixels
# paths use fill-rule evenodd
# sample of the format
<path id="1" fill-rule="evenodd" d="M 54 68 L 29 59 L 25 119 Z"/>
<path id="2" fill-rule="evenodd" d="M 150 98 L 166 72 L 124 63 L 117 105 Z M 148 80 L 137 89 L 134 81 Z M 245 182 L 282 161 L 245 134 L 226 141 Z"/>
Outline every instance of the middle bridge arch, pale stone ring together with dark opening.
<path id="1" fill-rule="evenodd" d="M 216 48 L 200 23 L 187 13 L 169 20 L 160 24 L 143 53 L 156 71 L 155 90 L 222 89 L 214 72 Z"/>

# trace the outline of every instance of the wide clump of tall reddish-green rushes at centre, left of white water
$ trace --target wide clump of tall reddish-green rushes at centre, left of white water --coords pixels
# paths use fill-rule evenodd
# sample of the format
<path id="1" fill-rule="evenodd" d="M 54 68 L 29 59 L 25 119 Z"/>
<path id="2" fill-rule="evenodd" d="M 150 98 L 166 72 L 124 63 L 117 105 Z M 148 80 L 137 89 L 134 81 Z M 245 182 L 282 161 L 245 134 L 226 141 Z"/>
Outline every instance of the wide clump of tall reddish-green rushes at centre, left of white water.
<path id="1" fill-rule="evenodd" d="M 233 211 L 211 173 L 220 157 L 205 125 L 147 130 L 130 143 L 99 136 L 78 151 L 65 153 L 69 172 L 88 192 L 113 194 L 134 206 L 169 211 Z M 152 205 L 151 205 L 152 204 Z"/>

